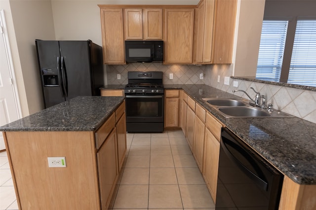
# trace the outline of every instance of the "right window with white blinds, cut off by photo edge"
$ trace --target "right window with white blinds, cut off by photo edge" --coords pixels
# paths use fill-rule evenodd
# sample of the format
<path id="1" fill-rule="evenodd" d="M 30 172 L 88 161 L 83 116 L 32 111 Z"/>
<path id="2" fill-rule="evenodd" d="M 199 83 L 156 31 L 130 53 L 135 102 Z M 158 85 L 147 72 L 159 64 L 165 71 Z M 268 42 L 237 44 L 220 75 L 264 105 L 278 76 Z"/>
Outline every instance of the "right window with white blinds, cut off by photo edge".
<path id="1" fill-rule="evenodd" d="M 316 20 L 298 20 L 288 83 L 316 87 Z"/>

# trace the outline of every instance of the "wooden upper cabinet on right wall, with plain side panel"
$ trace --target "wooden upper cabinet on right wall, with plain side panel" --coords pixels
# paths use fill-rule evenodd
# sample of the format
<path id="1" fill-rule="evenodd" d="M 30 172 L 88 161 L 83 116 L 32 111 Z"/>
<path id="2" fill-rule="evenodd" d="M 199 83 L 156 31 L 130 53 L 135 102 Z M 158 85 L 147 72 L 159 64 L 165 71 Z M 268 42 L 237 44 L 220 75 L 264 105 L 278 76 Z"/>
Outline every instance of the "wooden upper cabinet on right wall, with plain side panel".
<path id="1" fill-rule="evenodd" d="M 200 0 L 195 14 L 194 63 L 232 63 L 237 0 Z"/>

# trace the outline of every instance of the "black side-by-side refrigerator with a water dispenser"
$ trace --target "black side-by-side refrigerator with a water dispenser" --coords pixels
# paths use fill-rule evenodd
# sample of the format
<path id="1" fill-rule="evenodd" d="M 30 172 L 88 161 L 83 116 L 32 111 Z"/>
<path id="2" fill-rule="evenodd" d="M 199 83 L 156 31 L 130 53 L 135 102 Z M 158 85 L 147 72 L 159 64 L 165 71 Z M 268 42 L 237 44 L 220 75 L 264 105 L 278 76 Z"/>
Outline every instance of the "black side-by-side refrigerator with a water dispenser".
<path id="1" fill-rule="evenodd" d="M 35 40 L 45 108 L 77 96 L 101 95 L 102 47 L 87 41 Z"/>

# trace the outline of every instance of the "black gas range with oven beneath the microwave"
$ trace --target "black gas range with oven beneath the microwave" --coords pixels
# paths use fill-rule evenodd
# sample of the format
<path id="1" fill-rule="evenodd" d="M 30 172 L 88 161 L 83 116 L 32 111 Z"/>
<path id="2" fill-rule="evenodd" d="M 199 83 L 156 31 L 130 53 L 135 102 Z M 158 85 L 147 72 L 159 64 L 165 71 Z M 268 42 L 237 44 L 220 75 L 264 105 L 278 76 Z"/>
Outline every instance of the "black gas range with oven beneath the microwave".
<path id="1" fill-rule="evenodd" d="M 127 132 L 163 132 L 164 89 L 162 72 L 128 72 L 126 97 Z"/>

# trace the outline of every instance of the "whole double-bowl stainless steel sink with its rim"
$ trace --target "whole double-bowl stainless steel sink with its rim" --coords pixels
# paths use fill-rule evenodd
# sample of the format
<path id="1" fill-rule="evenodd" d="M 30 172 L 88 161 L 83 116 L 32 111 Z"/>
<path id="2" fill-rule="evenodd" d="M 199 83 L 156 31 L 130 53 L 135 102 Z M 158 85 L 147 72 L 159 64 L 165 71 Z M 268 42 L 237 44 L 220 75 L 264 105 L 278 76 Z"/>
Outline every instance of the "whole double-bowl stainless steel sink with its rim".
<path id="1" fill-rule="evenodd" d="M 266 109 L 250 106 L 241 99 L 203 98 L 203 100 L 220 111 L 225 118 L 294 118 L 277 110 L 268 112 Z"/>

